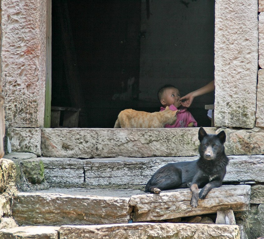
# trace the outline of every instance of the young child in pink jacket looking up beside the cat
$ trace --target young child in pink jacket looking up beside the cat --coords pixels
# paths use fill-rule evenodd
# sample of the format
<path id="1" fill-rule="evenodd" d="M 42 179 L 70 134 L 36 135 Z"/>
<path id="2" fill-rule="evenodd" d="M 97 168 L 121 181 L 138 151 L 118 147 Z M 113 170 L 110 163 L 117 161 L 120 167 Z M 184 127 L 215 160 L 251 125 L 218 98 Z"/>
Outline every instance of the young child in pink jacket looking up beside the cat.
<path id="1" fill-rule="evenodd" d="M 172 85 L 165 85 L 158 91 L 158 98 L 161 102 L 161 110 L 169 106 L 170 110 L 180 110 L 177 114 L 175 124 L 166 124 L 165 128 L 197 127 L 197 122 L 186 107 L 181 106 L 180 91 Z"/>

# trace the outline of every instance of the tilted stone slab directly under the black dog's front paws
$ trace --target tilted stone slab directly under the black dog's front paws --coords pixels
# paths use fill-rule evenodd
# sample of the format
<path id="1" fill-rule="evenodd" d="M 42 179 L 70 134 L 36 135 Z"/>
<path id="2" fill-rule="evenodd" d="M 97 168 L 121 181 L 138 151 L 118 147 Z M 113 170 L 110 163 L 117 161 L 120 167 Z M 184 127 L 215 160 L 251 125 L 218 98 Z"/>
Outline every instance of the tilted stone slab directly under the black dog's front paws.
<path id="1" fill-rule="evenodd" d="M 197 208 L 190 206 L 190 190 L 132 196 L 133 222 L 163 220 L 215 213 L 217 210 L 244 211 L 249 209 L 249 185 L 225 185 L 212 189 Z M 214 205 L 214 206 L 212 206 Z"/>

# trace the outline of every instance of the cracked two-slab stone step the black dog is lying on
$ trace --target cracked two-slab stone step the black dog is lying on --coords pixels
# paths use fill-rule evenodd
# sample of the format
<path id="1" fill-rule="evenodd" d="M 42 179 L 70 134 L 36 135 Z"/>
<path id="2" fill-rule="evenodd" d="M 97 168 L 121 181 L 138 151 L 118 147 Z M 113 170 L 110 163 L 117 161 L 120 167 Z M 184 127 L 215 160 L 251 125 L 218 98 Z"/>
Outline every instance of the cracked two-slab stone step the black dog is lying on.
<path id="1" fill-rule="evenodd" d="M 161 194 L 139 190 L 49 189 L 18 193 L 12 216 L 26 225 L 91 225 L 142 222 L 216 213 L 245 211 L 250 204 L 249 185 L 224 185 L 209 192 L 191 208 L 189 189 Z"/>

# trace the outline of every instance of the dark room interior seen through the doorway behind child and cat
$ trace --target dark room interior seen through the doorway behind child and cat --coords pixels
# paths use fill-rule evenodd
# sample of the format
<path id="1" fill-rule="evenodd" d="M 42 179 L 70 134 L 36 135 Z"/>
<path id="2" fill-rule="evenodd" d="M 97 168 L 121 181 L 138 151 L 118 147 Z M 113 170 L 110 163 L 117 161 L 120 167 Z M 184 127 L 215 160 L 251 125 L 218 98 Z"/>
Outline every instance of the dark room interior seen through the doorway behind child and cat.
<path id="1" fill-rule="evenodd" d="M 113 128 L 121 110 L 159 111 L 162 85 L 184 96 L 213 80 L 214 1 L 182 2 L 52 1 L 51 106 L 78 110 L 80 128 Z M 213 92 L 189 108 L 198 126 L 211 126 L 207 104 Z"/>

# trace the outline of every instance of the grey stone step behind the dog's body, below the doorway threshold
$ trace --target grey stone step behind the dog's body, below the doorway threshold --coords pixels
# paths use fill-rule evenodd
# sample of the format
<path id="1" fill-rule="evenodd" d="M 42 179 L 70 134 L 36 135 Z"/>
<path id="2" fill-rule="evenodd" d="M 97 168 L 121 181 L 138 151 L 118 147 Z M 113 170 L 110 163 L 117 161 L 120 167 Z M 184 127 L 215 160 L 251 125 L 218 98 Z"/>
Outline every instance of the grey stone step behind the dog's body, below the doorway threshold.
<path id="1" fill-rule="evenodd" d="M 170 162 L 192 161 L 198 157 L 115 157 L 97 159 L 46 158 L 11 153 L 6 158 L 17 164 L 19 174 L 50 187 L 104 187 L 143 190 L 153 173 Z M 264 182 L 264 155 L 229 156 L 223 182 Z M 41 171 L 41 167 L 43 168 Z M 34 179 L 35 177 L 35 179 Z M 32 180 L 34 179 L 34 180 Z"/>

